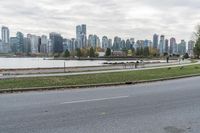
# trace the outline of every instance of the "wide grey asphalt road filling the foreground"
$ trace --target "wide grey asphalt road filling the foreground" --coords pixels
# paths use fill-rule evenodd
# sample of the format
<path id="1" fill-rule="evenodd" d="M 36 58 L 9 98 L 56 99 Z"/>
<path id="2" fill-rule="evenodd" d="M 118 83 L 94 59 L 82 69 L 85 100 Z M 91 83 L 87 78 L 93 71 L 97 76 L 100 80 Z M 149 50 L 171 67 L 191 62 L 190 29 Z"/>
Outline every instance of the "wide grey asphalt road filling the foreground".
<path id="1" fill-rule="evenodd" d="M 0 133 L 199 133 L 200 77 L 0 95 Z"/>

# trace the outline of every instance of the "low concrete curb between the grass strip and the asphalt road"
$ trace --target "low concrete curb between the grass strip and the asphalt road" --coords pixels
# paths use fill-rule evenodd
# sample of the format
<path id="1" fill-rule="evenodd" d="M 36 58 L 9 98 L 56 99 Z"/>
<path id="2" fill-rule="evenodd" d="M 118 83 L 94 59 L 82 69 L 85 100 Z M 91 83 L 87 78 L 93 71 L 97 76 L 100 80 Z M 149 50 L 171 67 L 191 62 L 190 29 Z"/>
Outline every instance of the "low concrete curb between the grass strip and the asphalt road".
<path id="1" fill-rule="evenodd" d="M 67 89 L 92 88 L 92 87 L 135 85 L 135 84 L 142 84 L 142 83 L 152 83 L 152 82 L 159 82 L 159 81 L 167 81 L 167 80 L 175 80 L 175 79 L 182 79 L 182 78 L 197 77 L 197 76 L 200 76 L 200 74 L 183 75 L 183 76 L 176 76 L 176 77 L 169 77 L 169 78 L 159 78 L 159 79 L 152 79 L 152 80 L 127 81 L 127 82 L 118 82 L 118 83 L 105 83 L 105 84 L 1 89 L 0 90 L 0 94 L 3 94 L 3 93 L 15 93 L 15 92 L 29 92 L 29 91 L 67 90 Z"/>

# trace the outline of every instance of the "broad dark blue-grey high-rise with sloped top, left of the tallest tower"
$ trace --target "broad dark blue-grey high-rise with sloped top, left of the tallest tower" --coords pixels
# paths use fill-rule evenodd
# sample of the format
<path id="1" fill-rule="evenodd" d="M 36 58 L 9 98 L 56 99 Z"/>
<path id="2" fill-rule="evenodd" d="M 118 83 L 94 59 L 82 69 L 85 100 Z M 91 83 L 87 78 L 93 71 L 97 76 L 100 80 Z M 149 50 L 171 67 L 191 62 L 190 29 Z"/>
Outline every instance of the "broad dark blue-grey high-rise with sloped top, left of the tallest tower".
<path id="1" fill-rule="evenodd" d="M 63 52 L 63 37 L 58 33 L 50 33 L 49 38 L 51 39 L 51 43 L 53 46 L 54 53 L 62 53 Z"/>

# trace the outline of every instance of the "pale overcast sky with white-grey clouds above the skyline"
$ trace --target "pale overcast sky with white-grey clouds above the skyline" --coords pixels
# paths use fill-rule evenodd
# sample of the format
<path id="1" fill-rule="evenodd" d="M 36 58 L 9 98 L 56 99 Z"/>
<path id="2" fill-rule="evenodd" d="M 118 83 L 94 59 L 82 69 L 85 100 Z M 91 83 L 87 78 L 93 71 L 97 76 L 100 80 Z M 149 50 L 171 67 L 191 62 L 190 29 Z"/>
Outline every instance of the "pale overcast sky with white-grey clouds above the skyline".
<path id="1" fill-rule="evenodd" d="M 200 23 L 200 1 L 0 0 L 0 26 L 8 26 L 12 36 L 58 32 L 72 38 L 82 23 L 100 37 L 152 39 L 157 33 L 189 40 Z"/>

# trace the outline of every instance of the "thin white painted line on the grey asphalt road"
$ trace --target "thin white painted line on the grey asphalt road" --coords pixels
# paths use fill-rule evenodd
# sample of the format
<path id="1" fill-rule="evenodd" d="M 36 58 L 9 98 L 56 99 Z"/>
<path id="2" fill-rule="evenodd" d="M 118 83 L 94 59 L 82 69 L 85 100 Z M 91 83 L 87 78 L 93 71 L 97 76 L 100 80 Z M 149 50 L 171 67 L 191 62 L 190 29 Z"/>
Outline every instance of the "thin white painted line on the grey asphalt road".
<path id="1" fill-rule="evenodd" d="M 105 101 L 105 100 L 113 100 L 113 99 L 123 99 L 123 98 L 128 98 L 128 97 L 129 96 L 118 96 L 118 97 L 108 97 L 108 98 L 99 98 L 99 99 L 90 99 L 90 100 L 79 100 L 79 101 L 63 102 L 61 104 L 73 104 L 73 103 L 85 103 L 85 102 Z"/>

